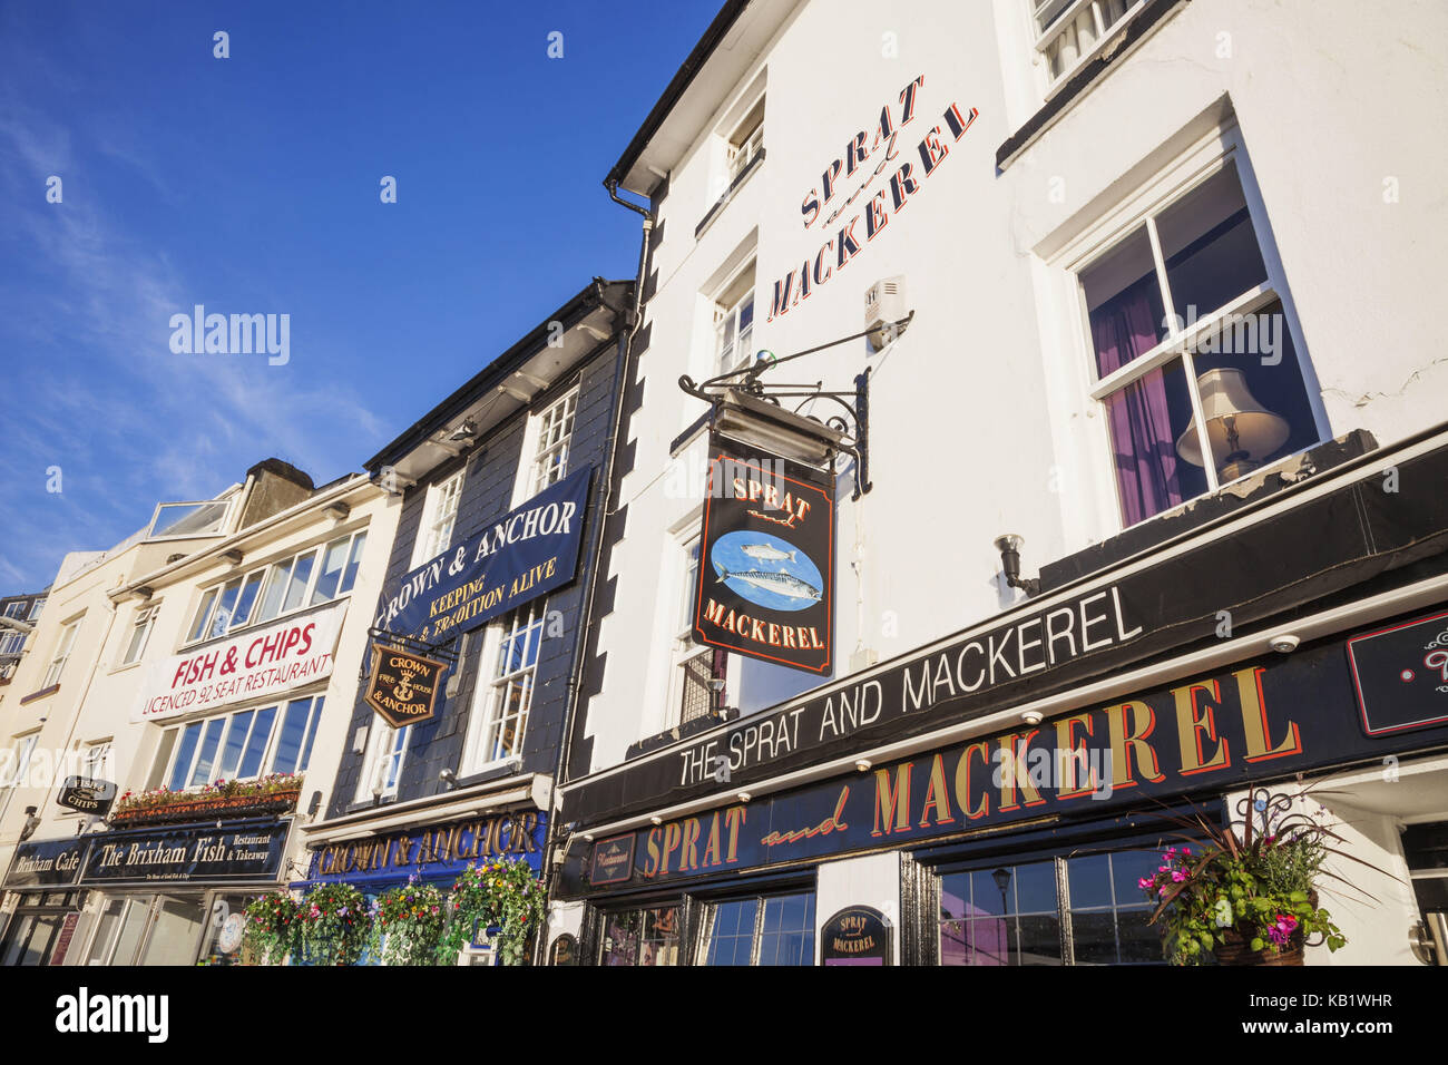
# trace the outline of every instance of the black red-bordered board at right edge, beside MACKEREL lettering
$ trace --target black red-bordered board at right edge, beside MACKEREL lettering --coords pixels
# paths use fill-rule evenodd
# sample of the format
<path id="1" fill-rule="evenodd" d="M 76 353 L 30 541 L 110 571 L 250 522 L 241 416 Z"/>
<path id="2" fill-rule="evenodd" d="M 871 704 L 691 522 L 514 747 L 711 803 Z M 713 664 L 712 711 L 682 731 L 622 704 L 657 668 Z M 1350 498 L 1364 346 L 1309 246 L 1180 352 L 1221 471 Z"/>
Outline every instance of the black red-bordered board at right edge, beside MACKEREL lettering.
<path id="1" fill-rule="evenodd" d="M 1448 722 L 1448 613 L 1354 636 L 1348 661 L 1370 736 Z"/>

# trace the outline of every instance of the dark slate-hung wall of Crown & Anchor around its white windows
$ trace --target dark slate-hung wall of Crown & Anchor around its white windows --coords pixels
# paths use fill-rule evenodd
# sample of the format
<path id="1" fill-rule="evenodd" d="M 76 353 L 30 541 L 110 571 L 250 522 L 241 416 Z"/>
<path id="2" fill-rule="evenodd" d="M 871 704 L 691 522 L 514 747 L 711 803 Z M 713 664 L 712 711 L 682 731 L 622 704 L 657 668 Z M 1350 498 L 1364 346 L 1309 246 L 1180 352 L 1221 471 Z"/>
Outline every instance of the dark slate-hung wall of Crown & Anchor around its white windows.
<path id="1" fill-rule="evenodd" d="M 585 467 L 592 467 L 594 478 L 589 487 L 584 548 L 579 558 L 578 575 L 572 584 L 547 596 L 546 609 L 550 620 L 556 622 L 556 625 L 544 623 L 543 643 L 539 651 L 537 672 L 534 674 L 533 704 L 529 710 L 529 723 L 523 742 L 523 772 L 547 775 L 557 772 L 559 749 L 563 743 L 565 717 L 568 714 L 569 678 L 573 671 L 573 649 L 578 639 L 578 625 L 581 623 L 585 606 L 584 596 L 588 588 L 588 575 L 594 561 L 592 548 L 598 536 L 598 507 L 601 506 L 604 488 L 608 432 L 613 427 L 613 387 L 618 356 L 617 342 L 605 341 L 592 356 L 585 359 L 579 371 L 560 380 L 531 404 L 531 412 L 540 412 L 552 400 L 572 388 L 573 384 L 579 385 L 568 469 L 573 472 Z M 513 485 L 518 475 L 518 464 L 523 461 L 526 426 L 527 416 L 520 412 L 515 417 L 498 426 L 465 456 L 434 467 L 426 483 L 407 490 L 403 497 L 403 513 L 398 519 L 397 538 L 392 540 L 392 554 L 384 581 L 384 597 L 410 568 L 413 545 L 417 540 L 427 490 L 432 484 L 450 477 L 459 467 L 466 464 L 462 497 L 458 501 L 458 523 L 453 532 L 455 543 L 508 511 L 508 504 L 513 500 Z M 557 617 L 552 617 L 555 611 Z M 557 635 L 549 636 L 549 629 L 553 629 Z M 463 745 L 468 739 L 468 719 L 479 682 L 479 672 L 491 671 L 494 665 L 492 662 L 481 661 L 484 632 L 485 627 L 478 627 L 469 635 L 453 640 L 453 649 L 458 649 L 466 640 L 468 653 L 465 661 L 458 667 L 460 669 L 460 682 L 458 682 L 453 694 L 445 694 L 439 700 L 437 714 L 432 720 L 413 726 L 407 752 L 403 756 L 403 772 L 398 780 L 395 801 L 424 798 L 449 790 L 439 777 L 443 769 L 452 769 L 459 774 L 458 782 L 452 790 L 508 774 L 507 768 L 500 768 L 488 775 L 460 775 Z M 447 677 L 452 677 L 452 674 L 449 672 Z M 358 782 L 366 767 L 363 764 L 365 753 L 353 752 L 352 738 L 358 735 L 358 729 L 361 727 L 375 729 L 387 726 L 362 701 L 359 691 L 356 704 L 352 709 L 352 723 L 348 727 L 348 743 L 337 768 L 332 800 L 327 804 L 327 817 L 355 813 L 372 806 L 369 794 L 363 794 L 361 801 L 358 800 Z M 391 801 L 388 800 L 388 803 Z"/>

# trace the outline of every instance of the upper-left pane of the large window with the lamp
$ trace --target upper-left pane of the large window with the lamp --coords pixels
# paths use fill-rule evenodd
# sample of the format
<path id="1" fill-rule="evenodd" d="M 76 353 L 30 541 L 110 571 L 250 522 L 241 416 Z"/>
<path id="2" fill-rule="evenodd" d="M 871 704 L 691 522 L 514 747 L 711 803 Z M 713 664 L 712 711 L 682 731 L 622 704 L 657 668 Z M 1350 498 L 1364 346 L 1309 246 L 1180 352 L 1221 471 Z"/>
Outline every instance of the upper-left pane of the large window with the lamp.
<path id="1" fill-rule="evenodd" d="M 1099 377 L 1121 369 L 1166 339 L 1161 285 L 1145 227 L 1083 270 L 1080 281 Z"/>

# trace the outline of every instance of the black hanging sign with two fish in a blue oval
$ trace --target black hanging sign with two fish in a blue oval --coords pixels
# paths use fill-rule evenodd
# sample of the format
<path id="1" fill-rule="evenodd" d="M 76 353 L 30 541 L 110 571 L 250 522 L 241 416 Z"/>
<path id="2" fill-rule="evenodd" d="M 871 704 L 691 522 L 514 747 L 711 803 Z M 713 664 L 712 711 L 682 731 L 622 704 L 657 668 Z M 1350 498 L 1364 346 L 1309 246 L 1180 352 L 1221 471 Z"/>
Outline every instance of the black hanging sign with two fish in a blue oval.
<path id="1" fill-rule="evenodd" d="M 830 672 L 834 478 L 714 433 L 694 639 Z"/>

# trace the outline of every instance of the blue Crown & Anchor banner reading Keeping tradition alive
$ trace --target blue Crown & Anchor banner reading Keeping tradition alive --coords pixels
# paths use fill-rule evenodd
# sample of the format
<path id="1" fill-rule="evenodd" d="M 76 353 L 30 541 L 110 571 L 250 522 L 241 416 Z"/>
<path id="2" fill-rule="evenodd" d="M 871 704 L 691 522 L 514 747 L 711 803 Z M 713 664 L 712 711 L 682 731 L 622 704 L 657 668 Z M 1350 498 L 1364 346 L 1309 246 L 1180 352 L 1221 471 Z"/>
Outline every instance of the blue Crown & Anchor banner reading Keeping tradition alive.
<path id="1" fill-rule="evenodd" d="M 423 643 L 455 636 L 573 580 L 592 467 L 405 574 L 382 594 L 376 627 Z"/>

